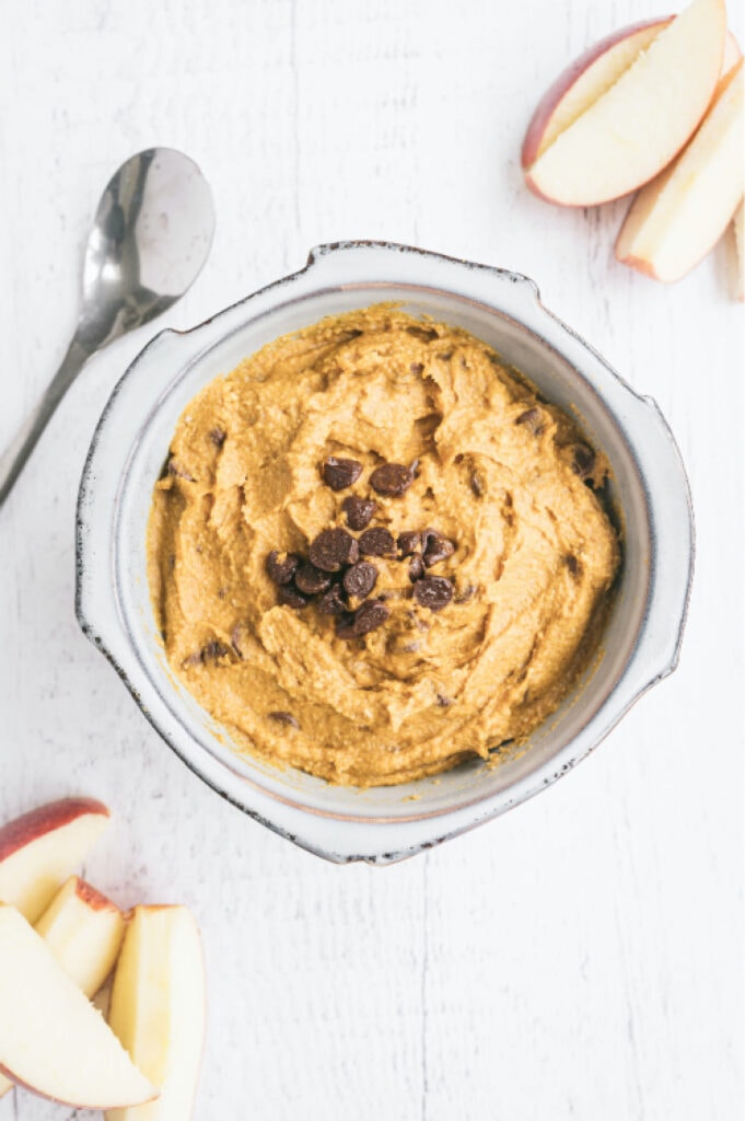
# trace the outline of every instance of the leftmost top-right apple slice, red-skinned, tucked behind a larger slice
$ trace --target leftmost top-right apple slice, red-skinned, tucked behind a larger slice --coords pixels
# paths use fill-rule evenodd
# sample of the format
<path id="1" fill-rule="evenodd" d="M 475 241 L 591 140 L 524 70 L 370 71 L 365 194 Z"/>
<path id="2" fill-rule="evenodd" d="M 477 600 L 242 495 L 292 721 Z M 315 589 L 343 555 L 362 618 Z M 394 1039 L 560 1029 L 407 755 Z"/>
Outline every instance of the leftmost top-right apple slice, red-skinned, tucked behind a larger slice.
<path id="1" fill-rule="evenodd" d="M 534 164 L 561 132 L 618 81 L 672 18 L 650 19 L 607 35 L 558 76 L 528 126 L 521 154 L 523 168 Z"/>

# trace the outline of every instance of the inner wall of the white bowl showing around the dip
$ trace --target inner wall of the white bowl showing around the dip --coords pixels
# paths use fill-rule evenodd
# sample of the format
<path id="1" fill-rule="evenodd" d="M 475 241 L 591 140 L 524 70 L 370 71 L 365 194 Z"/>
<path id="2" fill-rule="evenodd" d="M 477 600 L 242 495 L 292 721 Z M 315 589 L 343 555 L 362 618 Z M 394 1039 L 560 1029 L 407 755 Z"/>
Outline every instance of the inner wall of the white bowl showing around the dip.
<path id="1" fill-rule="evenodd" d="M 289 296 L 289 293 L 288 293 Z M 152 488 L 159 478 L 178 417 L 213 378 L 288 332 L 325 315 L 395 300 L 416 316 L 428 315 L 464 327 L 516 367 L 548 400 L 574 415 L 590 443 L 604 450 L 612 466 L 609 498 L 620 512 L 624 564 L 613 611 L 604 632 L 602 656 L 584 675 L 557 713 L 529 743 L 497 766 L 464 763 L 431 779 L 398 787 L 356 790 L 328 786 L 300 771 L 278 769 L 231 749 L 230 736 L 176 680 L 166 663 L 150 604 L 146 531 Z M 350 285 L 290 299 L 269 313 L 245 319 L 231 334 L 205 349 L 187 365 L 164 369 L 165 389 L 145 419 L 130 451 L 115 512 L 114 582 L 118 610 L 136 658 L 162 703 L 183 729 L 174 747 L 198 771 L 203 752 L 225 768 L 231 797 L 250 803 L 250 788 L 329 816 L 367 821 L 420 818 L 478 803 L 550 763 L 606 703 L 634 648 L 648 600 L 650 534 L 644 489 L 622 426 L 596 388 L 558 351 L 524 325 L 493 307 L 438 289 L 404 285 Z"/>

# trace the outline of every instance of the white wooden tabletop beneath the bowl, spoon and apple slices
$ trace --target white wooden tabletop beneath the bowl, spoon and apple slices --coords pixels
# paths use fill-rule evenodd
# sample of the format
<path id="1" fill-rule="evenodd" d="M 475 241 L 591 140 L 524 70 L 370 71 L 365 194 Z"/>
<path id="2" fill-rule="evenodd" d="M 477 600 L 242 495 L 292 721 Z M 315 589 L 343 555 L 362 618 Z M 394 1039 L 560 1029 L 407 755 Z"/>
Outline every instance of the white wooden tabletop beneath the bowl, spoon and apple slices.
<path id="1" fill-rule="evenodd" d="M 519 165 L 555 74 L 664 12 L 649 0 L 0 7 L 0 446 L 64 353 L 101 189 L 128 155 L 164 143 L 203 167 L 218 228 L 157 328 L 198 322 L 323 241 L 515 268 L 656 398 L 698 527 L 680 667 L 587 762 L 408 863 L 324 864 L 201 785 L 75 622 L 77 481 L 145 328 L 91 361 L 0 511 L 0 819 L 66 793 L 103 798 L 117 819 L 90 878 L 122 905 L 194 908 L 209 973 L 199 1119 L 734 1121 L 742 306 L 724 247 L 656 286 L 613 260 L 623 203 L 550 207 Z M 0 1121 L 95 1115 L 0 1102 Z"/>

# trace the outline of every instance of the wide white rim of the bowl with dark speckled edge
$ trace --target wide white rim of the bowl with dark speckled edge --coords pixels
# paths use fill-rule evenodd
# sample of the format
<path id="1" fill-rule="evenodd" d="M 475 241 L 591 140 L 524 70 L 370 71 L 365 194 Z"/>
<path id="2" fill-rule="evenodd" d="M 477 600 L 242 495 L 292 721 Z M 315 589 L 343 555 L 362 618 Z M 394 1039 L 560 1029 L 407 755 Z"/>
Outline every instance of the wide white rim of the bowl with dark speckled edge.
<path id="1" fill-rule="evenodd" d="M 301 800 L 268 791 L 233 772 L 184 729 L 178 700 L 153 688 L 138 655 L 138 636 L 118 602 L 117 548 L 122 482 L 132 447 L 113 434 L 129 381 L 156 356 L 173 379 L 197 362 L 215 341 L 250 319 L 324 291 L 355 286 L 403 285 L 469 300 L 509 316 L 548 351 L 570 361 L 613 416 L 635 461 L 645 497 L 650 565 L 645 604 L 628 659 L 614 687 L 593 710 L 579 734 L 540 768 L 506 789 L 464 799 L 456 809 L 413 812 L 407 817 L 317 810 Z M 281 332 L 279 332 L 281 333 Z M 178 374 L 177 374 L 178 376 Z M 162 379 L 142 404 L 140 421 L 158 409 Z M 653 470 L 651 470 L 653 469 Z M 327 860 L 390 863 L 413 855 L 486 822 L 544 789 L 585 758 L 652 685 L 671 673 L 679 657 L 693 568 L 690 491 L 674 439 L 659 408 L 636 395 L 576 332 L 543 307 L 528 277 L 407 245 L 339 242 L 314 249 L 300 271 L 276 281 L 188 332 L 165 331 L 134 359 L 112 392 L 86 457 L 77 503 L 76 613 L 89 639 L 105 655 L 145 716 L 176 754 L 205 782 L 255 821 Z M 664 558 L 664 564 L 662 564 Z M 662 575 L 662 572 L 664 575 Z"/>

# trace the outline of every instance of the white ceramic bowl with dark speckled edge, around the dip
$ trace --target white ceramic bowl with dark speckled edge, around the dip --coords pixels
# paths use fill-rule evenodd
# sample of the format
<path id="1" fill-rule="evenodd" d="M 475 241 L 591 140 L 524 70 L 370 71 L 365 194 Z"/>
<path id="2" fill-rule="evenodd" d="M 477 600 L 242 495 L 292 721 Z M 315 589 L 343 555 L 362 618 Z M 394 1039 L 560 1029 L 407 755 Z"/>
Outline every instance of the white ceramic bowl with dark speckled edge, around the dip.
<path id="1" fill-rule="evenodd" d="M 325 315 L 397 300 L 465 327 L 571 411 L 613 471 L 624 564 L 592 675 L 499 767 L 477 760 L 436 779 L 356 790 L 239 757 L 224 729 L 174 678 L 150 606 L 146 527 L 178 417 L 208 381 L 264 343 Z M 656 405 L 639 397 L 541 304 L 536 285 L 502 269 L 402 245 L 345 242 L 213 319 L 164 331 L 117 386 L 83 472 L 77 615 L 142 712 L 201 778 L 252 817 L 328 860 L 385 863 L 463 833 L 544 789 L 676 666 L 692 572 L 686 474 Z M 412 799 L 416 795 L 416 799 Z"/>

